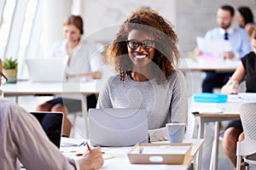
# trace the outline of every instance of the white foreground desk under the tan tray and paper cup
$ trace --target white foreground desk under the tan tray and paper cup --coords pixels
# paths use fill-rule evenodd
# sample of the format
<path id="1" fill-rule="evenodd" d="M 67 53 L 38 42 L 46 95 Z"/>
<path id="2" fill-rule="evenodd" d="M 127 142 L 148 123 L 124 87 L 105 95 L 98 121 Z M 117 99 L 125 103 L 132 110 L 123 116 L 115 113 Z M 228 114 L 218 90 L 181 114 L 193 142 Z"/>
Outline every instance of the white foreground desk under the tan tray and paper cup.
<path id="1" fill-rule="evenodd" d="M 156 164 L 131 164 L 128 156 L 126 155 L 132 147 L 102 147 L 102 150 L 105 151 L 105 154 L 108 156 L 113 156 L 113 158 L 107 159 L 104 161 L 104 165 L 101 169 L 172 169 L 172 170 L 186 170 L 189 168 L 191 161 L 195 157 L 198 150 L 201 150 L 201 147 L 204 143 L 204 139 L 184 139 L 183 143 L 192 143 L 193 147 L 189 159 L 184 161 L 182 165 L 156 165 Z M 65 154 L 64 154 L 65 155 Z M 71 157 L 73 158 L 73 157 Z"/>

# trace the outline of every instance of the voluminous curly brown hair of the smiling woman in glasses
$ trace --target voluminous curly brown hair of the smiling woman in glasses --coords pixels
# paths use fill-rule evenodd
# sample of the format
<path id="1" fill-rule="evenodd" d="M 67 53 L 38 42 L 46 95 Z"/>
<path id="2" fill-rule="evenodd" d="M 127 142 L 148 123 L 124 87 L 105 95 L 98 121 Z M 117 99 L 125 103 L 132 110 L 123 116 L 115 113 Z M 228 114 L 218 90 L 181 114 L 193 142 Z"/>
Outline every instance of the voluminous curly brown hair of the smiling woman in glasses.
<path id="1" fill-rule="evenodd" d="M 177 49 L 177 35 L 172 24 L 153 9 L 137 9 L 125 20 L 108 48 L 108 59 L 115 65 L 121 81 L 124 82 L 126 76 L 131 76 L 132 62 L 128 57 L 126 41 L 129 32 L 134 29 L 146 32 L 154 38 L 153 62 L 158 66 L 156 82 L 164 84 L 172 74 L 180 55 Z"/>

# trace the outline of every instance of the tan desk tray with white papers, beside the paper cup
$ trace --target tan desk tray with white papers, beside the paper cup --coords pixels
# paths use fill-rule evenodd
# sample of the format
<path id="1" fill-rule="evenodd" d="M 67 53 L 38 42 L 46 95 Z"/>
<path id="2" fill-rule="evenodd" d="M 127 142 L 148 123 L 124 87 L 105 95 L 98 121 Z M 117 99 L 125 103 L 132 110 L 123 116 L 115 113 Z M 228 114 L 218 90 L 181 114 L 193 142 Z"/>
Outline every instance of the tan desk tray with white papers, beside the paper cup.
<path id="1" fill-rule="evenodd" d="M 153 146 L 154 149 L 157 147 L 170 147 L 170 146 L 184 146 L 185 150 L 182 153 L 168 152 L 158 153 L 157 150 L 155 153 L 146 152 L 143 153 L 143 150 Z M 190 152 L 192 149 L 192 144 L 190 143 L 172 143 L 172 144 L 136 144 L 128 153 L 127 156 L 131 164 L 183 164 L 184 161 L 191 159 Z M 168 152 L 168 153 L 167 153 Z"/>

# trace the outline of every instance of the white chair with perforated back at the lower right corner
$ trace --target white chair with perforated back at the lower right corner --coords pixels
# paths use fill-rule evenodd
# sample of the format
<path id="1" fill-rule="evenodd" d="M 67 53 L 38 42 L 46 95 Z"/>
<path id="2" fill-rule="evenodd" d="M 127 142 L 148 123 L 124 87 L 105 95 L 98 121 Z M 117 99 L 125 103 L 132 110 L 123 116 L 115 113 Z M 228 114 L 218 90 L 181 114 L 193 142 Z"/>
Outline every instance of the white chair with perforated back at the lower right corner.
<path id="1" fill-rule="evenodd" d="M 256 166 L 256 102 L 241 104 L 239 111 L 244 140 L 236 144 L 236 170 L 241 169 L 241 164 L 246 165 L 247 169 Z"/>

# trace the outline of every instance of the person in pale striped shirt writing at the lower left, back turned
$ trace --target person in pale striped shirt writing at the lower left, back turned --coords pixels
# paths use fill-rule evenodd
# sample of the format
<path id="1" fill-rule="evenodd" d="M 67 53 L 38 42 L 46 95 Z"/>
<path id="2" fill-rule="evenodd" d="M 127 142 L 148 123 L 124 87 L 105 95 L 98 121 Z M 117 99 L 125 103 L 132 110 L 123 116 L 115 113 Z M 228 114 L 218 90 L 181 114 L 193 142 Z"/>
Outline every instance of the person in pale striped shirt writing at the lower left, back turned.
<path id="1" fill-rule="evenodd" d="M 0 76 L 2 80 L 1 59 Z M 0 167 L 18 170 L 20 162 L 26 169 L 86 170 L 102 167 L 103 158 L 100 147 L 79 161 L 63 156 L 34 116 L 19 105 L 0 99 Z"/>

